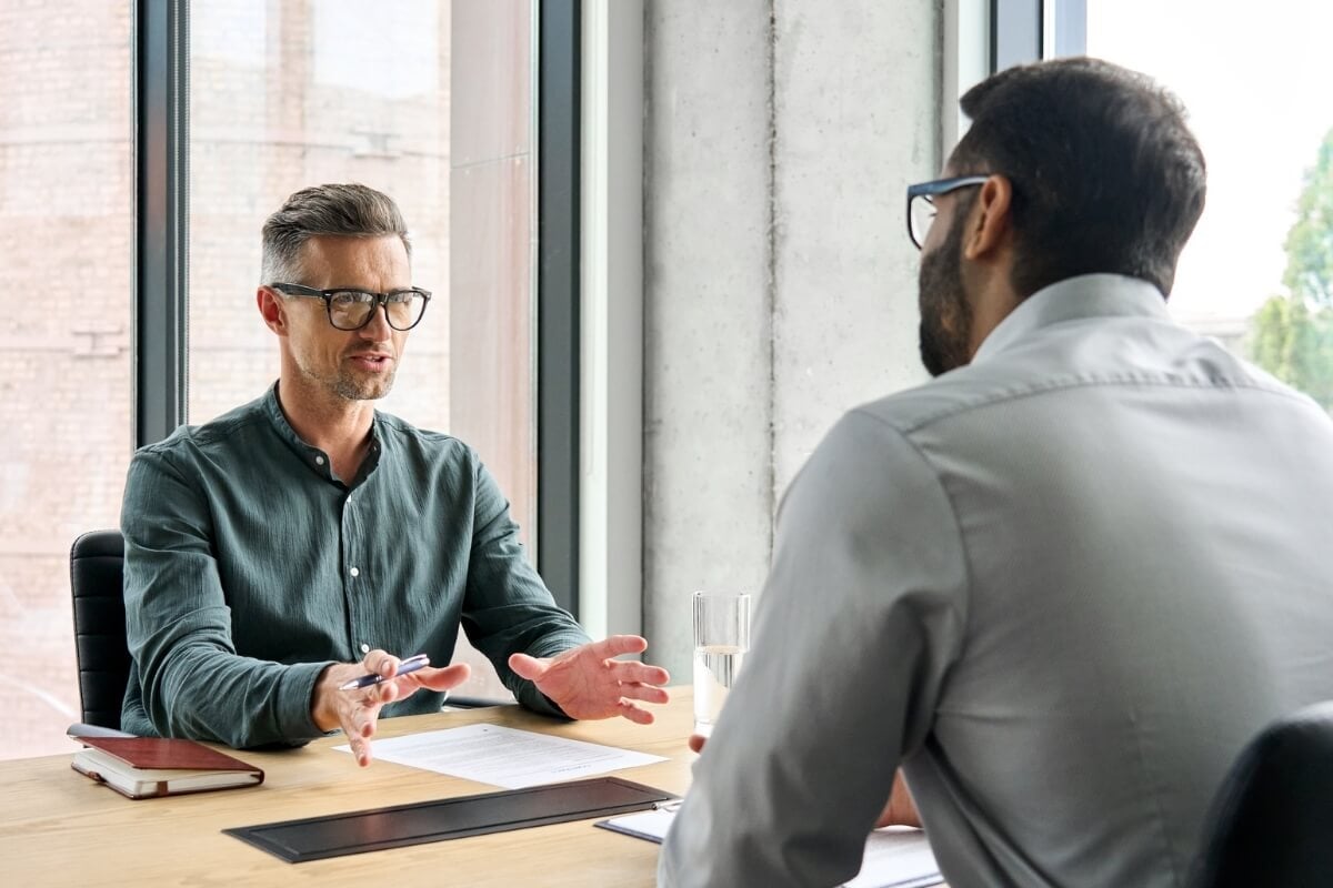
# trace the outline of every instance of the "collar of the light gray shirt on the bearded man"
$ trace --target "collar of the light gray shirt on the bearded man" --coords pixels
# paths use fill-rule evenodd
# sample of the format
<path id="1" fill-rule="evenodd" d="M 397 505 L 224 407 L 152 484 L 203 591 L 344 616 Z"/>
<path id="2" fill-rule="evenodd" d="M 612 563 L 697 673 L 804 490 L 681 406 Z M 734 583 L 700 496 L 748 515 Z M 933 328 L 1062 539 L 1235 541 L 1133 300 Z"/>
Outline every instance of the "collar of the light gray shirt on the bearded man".
<path id="1" fill-rule="evenodd" d="M 1041 328 L 1105 317 L 1170 321 L 1166 297 L 1148 281 L 1122 274 L 1080 274 L 1045 286 L 1020 302 L 985 338 L 972 363 L 986 361 Z"/>

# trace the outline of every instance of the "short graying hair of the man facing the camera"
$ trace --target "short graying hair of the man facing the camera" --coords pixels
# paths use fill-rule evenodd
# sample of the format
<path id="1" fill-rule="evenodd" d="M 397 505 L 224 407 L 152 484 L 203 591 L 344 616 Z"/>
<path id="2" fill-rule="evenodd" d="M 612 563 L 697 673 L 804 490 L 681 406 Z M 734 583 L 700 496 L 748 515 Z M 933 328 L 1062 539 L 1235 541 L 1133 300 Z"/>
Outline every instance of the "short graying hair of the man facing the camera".
<path id="1" fill-rule="evenodd" d="M 296 192 L 264 222 L 260 284 L 300 284 L 301 250 L 312 237 L 397 234 L 412 258 L 407 222 L 388 194 L 365 185 L 313 185 Z"/>

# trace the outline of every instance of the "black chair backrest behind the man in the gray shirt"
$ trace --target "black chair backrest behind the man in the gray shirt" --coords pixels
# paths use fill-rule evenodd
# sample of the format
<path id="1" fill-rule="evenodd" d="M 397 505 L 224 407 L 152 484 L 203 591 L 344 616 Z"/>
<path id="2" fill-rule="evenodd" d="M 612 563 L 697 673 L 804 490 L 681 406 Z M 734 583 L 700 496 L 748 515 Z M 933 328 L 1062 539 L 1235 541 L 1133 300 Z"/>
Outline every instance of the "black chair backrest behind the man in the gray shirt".
<path id="1" fill-rule="evenodd" d="M 1193 884 L 1333 885 L 1333 702 L 1245 747 L 1213 800 Z"/>

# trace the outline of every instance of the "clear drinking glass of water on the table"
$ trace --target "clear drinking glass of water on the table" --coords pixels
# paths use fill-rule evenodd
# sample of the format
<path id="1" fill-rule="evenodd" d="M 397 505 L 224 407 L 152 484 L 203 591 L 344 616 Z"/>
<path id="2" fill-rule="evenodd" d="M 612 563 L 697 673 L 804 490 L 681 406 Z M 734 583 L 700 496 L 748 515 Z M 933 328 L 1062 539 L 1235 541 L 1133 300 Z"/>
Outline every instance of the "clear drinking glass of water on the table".
<path id="1" fill-rule="evenodd" d="M 709 736 L 749 650 L 745 592 L 694 592 L 694 734 Z"/>

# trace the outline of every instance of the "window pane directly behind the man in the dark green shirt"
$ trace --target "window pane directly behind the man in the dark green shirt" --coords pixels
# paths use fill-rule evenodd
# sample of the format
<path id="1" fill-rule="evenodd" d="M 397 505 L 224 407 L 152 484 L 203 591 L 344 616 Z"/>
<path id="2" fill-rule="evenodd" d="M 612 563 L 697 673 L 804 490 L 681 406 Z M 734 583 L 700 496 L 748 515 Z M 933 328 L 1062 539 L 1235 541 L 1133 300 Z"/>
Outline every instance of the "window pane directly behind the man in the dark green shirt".
<path id="1" fill-rule="evenodd" d="M 277 377 L 260 228 L 292 192 L 364 182 L 433 293 L 377 406 L 472 445 L 533 529 L 531 0 L 211 0 L 191 15 L 189 421 Z M 529 554 L 532 549 L 529 549 Z M 505 694 L 489 666 L 460 694 Z M 409 654 L 411 651 L 403 651 Z"/>

